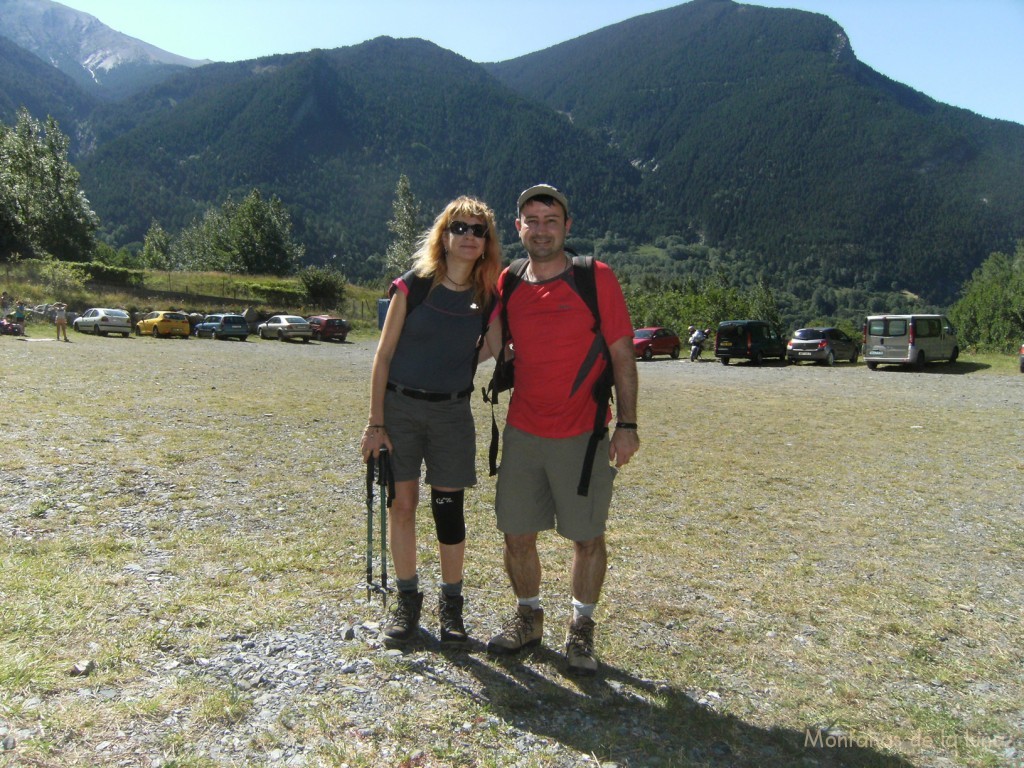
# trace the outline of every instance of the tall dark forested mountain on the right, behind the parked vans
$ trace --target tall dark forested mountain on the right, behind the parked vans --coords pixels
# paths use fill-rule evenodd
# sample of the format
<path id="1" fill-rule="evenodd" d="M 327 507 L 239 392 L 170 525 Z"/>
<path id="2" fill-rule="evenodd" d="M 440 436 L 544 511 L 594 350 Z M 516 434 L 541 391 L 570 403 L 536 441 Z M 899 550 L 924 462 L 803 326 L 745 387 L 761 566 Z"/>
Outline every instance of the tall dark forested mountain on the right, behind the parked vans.
<path id="1" fill-rule="evenodd" d="M 820 14 L 695 0 L 487 69 L 643 169 L 655 230 L 791 288 L 944 302 L 1024 234 L 1024 127 L 883 77 Z"/>

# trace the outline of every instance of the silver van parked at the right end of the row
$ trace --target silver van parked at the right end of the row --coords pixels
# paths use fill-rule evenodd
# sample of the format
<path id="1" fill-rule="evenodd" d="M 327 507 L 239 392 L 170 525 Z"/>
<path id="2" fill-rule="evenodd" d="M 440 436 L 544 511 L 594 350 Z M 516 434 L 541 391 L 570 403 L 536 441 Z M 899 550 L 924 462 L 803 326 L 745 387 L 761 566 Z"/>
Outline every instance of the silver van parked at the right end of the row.
<path id="1" fill-rule="evenodd" d="M 913 366 L 959 356 L 956 331 L 941 314 L 872 314 L 864 321 L 864 362 L 873 371 L 880 362 Z"/>

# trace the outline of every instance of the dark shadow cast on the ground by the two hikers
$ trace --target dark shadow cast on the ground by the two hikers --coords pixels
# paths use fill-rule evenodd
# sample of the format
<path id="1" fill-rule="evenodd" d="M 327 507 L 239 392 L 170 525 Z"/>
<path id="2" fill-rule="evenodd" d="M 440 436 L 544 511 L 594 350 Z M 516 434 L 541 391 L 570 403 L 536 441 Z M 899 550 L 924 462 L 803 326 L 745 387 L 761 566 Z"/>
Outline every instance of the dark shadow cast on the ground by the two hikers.
<path id="1" fill-rule="evenodd" d="M 565 677 L 564 658 L 539 649 L 521 658 L 452 653 L 447 663 L 474 676 L 496 715 L 535 736 L 551 739 L 600 763 L 708 768 L 912 768 L 898 755 L 863 738 L 817 728 L 765 729 L 715 712 L 694 694 L 602 665 L 593 678 Z M 429 659 L 420 672 L 458 686 Z"/>

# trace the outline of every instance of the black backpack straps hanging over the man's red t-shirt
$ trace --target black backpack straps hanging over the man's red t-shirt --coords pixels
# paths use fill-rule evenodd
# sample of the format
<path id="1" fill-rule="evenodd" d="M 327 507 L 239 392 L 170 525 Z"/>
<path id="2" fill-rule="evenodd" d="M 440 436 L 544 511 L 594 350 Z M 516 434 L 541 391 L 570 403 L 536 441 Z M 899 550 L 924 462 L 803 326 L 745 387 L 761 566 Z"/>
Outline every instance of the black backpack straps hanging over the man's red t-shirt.
<path id="1" fill-rule="evenodd" d="M 608 350 L 608 345 L 605 344 L 604 336 L 601 334 L 601 310 L 597 302 L 594 258 L 592 256 L 580 256 L 568 248 L 565 250 L 572 254 L 572 282 L 575 290 L 594 316 L 594 326 L 592 329 L 594 332 L 594 342 L 583 366 L 580 367 L 573 389 L 583 383 L 599 357 L 604 357 L 605 362 L 603 373 L 594 383 L 594 390 L 592 392 L 596 403 L 594 431 L 591 432 L 590 440 L 587 443 L 587 454 L 584 458 L 583 468 L 580 471 L 580 484 L 577 486 L 577 494 L 587 496 L 590 490 L 590 476 L 594 465 L 594 457 L 597 454 L 597 445 L 608 433 L 604 417 L 608 413 L 608 404 L 611 402 L 611 387 L 614 379 L 611 369 L 611 352 Z M 505 283 L 501 291 L 502 348 L 498 353 L 498 359 L 495 361 L 494 376 L 492 376 L 490 382 L 483 390 L 484 402 L 490 403 L 490 450 L 488 451 L 487 459 L 492 476 L 498 473 L 499 432 L 498 422 L 495 419 L 495 406 L 498 403 L 498 395 L 501 392 L 512 389 L 515 386 L 515 359 L 505 359 L 505 350 L 511 340 L 508 324 L 509 299 L 511 299 L 512 292 L 515 291 L 516 286 L 522 281 L 528 264 L 529 259 L 516 259 L 509 264 L 508 273 L 505 275 Z"/>

